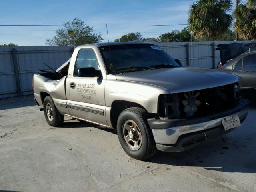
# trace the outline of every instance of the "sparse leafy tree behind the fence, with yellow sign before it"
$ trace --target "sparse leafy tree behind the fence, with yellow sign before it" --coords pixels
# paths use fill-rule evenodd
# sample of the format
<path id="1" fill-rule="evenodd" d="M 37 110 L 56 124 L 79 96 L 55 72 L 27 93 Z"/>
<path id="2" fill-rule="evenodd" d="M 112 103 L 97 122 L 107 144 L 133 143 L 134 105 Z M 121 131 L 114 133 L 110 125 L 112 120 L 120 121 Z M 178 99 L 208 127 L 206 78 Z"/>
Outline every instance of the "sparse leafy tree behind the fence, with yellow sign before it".
<path id="1" fill-rule="evenodd" d="M 74 31 L 74 36 L 68 34 L 68 30 Z M 76 45 L 98 43 L 103 40 L 100 32 L 94 33 L 91 26 L 86 26 L 84 21 L 75 18 L 72 21 L 64 23 L 64 28 L 56 30 L 56 35 L 52 39 L 47 39 L 47 45 L 73 45 L 75 37 Z"/>

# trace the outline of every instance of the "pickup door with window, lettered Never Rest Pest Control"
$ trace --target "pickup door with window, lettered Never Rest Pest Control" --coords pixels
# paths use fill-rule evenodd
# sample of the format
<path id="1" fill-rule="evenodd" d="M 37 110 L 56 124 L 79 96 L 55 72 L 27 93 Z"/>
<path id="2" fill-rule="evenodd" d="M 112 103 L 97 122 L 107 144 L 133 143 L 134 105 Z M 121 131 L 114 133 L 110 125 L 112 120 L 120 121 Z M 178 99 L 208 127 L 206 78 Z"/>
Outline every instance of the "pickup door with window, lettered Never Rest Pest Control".
<path id="1" fill-rule="evenodd" d="M 106 126 L 105 79 L 78 77 L 78 69 L 87 67 L 100 70 L 96 54 L 91 48 L 79 50 L 74 73 L 67 78 L 67 106 L 72 116 Z"/>

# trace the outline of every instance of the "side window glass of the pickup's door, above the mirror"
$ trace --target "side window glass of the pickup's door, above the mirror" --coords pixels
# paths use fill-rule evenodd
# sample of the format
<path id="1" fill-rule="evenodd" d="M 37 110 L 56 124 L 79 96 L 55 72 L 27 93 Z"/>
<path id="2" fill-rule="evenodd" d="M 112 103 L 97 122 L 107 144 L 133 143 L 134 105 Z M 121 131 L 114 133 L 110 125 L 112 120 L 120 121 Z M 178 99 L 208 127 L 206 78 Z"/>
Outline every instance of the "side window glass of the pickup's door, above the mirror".
<path id="1" fill-rule="evenodd" d="M 94 67 L 95 70 L 99 70 L 98 60 L 92 49 L 81 49 L 78 52 L 74 75 L 77 75 L 78 69 L 85 67 Z"/>

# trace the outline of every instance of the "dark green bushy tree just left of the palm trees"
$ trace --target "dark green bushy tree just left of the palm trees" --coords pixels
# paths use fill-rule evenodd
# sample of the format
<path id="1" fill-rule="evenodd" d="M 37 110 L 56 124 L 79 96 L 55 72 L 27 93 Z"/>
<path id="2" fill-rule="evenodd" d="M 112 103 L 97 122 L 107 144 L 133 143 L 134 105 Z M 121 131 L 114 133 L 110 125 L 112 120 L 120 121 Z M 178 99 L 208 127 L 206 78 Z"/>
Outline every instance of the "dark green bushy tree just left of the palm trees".
<path id="1" fill-rule="evenodd" d="M 188 27 L 179 30 L 173 30 L 172 32 L 161 34 L 158 39 L 162 42 L 188 42 L 191 39 L 190 31 Z"/>

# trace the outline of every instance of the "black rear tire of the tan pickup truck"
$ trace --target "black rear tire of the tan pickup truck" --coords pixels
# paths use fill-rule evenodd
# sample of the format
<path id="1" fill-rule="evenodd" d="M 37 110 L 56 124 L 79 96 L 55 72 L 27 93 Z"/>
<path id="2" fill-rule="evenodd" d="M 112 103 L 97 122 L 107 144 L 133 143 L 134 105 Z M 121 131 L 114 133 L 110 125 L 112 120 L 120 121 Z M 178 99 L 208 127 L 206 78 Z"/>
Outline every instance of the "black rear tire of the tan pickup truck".
<path id="1" fill-rule="evenodd" d="M 50 116 L 52 116 L 52 118 L 48 118 L 47 106 L 51 107 Z M 47 96 L 44 99 L 44 116 L 45 116 L 45 119 L 46 119 L 47 123 L 50 126 L 53 126 L 53 127 L 60 126 L 64 121 L 64 115 L 60 114 L 60 112 L 58 111 L 58 109 L 54 105 L 54 102 L 53 102 L 51 96 Z"/>

